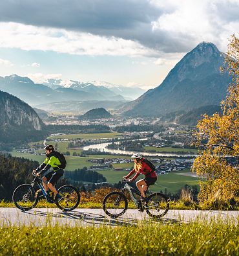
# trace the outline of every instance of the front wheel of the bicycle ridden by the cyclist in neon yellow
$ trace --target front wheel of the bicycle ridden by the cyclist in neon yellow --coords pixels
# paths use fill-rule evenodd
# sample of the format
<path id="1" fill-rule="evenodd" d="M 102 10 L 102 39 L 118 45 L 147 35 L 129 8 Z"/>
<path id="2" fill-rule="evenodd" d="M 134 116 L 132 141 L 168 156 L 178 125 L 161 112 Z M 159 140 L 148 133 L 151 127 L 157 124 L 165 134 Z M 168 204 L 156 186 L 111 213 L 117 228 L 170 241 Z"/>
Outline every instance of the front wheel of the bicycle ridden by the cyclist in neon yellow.
<path id="1" fill-rule="evenodd" d="M 28 211 L 37 205 L 39 198 L 30 184 L 19 185 L 12 194 L 12 201 L 17 208 Z"/>

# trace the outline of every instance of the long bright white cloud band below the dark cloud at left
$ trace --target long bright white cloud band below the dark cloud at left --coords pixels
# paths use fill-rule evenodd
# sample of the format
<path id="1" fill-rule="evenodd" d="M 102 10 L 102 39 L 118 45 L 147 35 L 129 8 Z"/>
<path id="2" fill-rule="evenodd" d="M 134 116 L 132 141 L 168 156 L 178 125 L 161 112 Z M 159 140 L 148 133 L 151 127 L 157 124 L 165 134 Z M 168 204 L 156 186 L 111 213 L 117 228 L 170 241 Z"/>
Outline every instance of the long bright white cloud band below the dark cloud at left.
<path id="1" fill-rule="evenodd" d="M 156 51 L 132 40 L 96 36 L 65 29 L 46 29 L 20 23 L 0 23 L 0 47 L 56 51 L 78 55 L 154 56 Z M 3 36 L 4 35 L 4 36 Z"/>

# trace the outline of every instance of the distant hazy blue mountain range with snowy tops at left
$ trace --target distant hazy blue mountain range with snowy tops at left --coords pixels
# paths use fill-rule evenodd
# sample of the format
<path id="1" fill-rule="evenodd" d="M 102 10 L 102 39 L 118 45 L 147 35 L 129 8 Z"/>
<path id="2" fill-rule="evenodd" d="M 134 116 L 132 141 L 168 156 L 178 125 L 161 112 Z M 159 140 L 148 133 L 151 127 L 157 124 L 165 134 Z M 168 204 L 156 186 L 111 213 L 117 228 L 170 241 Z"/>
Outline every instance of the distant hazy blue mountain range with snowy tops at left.
<path id="1" fill-rule="evenodd" d="M 32 106 L 63 100 L 114 100 L 114 95 L 108 97 L 107 95 L 89 93 L 70 87 L 56 87 L 52 89 L 43 84 L 35 84 L 28 77 L 17 75 L 0 76 L 0 90 L 10 93 Z M 123 97 L 118 98 L 122 99 Z"/>

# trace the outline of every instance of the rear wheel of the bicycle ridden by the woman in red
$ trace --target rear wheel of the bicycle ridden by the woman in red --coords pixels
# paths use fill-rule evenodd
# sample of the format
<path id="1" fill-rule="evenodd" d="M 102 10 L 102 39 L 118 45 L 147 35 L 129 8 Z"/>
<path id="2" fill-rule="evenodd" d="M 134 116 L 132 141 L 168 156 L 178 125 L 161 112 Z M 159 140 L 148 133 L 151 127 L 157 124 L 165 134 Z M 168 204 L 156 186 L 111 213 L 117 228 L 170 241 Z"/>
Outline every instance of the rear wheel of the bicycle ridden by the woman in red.
<path id="1" fill-rule="evenodd" d="M 169 211 L 169 198 L 165 194 L 154 193 L 145 204 L 146 213 L 153 218 L 161 218 Z"/>

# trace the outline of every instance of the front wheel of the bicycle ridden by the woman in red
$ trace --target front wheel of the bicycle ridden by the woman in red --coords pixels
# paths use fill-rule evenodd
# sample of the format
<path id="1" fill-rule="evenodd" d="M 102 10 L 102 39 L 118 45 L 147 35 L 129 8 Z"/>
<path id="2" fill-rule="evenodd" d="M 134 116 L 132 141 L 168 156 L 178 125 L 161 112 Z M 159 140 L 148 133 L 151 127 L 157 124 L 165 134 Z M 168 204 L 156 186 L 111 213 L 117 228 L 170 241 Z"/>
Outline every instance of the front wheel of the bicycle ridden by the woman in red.
<path id="1" fill-rule="evenodd" d="M 103 210 L 108 216 L 113 218 L 123 215 L 127 207 L 127 198 L 121 192 L 110 192 L 103 200 Z"/>

